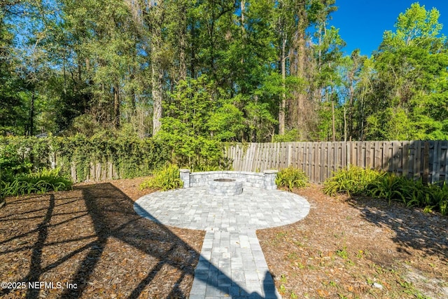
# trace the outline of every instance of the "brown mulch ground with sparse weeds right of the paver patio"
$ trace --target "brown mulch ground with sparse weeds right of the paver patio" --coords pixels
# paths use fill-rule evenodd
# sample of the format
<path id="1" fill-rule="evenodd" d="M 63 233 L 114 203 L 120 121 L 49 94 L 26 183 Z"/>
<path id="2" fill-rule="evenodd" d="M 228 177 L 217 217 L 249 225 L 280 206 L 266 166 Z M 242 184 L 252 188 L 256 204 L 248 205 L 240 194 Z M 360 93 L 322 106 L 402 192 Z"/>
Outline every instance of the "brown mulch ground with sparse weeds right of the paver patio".
<path id="1" fill-rule="evenodd" d="M 257 232 L 284 298 L 448 298 L 448 217 L 321 188 L 295 191 L 302 221 Z"/>

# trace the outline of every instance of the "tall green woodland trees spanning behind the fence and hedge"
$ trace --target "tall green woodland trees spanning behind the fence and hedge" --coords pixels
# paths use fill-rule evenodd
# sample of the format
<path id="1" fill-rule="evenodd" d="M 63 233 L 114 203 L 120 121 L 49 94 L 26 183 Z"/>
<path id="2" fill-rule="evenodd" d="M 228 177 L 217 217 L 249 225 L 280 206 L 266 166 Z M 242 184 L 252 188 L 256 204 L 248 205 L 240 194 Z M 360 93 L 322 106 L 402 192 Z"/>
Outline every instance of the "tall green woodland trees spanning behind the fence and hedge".
<path id="1" fill-rule="evenodd" d="M 447 139 L 437 9 L 412 4 L 371 57 L 344 55 L 334 11 L 335 0 L 2 1 L 0 134 L 198 148 Z"/>

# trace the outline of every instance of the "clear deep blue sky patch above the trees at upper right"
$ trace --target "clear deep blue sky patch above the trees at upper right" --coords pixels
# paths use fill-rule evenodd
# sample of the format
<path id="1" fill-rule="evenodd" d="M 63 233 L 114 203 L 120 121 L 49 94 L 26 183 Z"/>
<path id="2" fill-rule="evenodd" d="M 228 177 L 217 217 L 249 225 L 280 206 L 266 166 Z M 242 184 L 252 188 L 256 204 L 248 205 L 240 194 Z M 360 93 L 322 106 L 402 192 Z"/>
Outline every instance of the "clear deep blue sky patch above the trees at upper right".
<path id="1" fill-rule="evenodd" d="M 385 30 L 394 30 L 393 25 L 400 13 L 404 13 L 412 0 L 336 0 L 338 10 L 332 13 L 330 25 L 339 28 L 339 34 L 346 41 L 347 55 L 360 48 L 362 55 L 370 56 L 377 50 Z M 429 11 L 437 8 L 439 22 L 444 25 L 442 33 L 448 36 L 448 0 L 420 0 L 421 6 Z"/>

